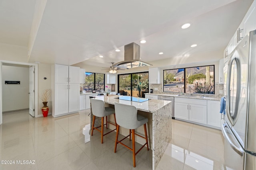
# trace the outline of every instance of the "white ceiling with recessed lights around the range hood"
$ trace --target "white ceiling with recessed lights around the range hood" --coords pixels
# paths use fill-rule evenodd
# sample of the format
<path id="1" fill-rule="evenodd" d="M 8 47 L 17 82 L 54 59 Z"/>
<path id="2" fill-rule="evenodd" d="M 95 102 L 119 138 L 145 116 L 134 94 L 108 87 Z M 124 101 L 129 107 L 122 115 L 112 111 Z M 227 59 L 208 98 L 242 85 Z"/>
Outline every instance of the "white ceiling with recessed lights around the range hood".
<path id="1" fill-rule="evenodd" d="M 141 60 L 224 50 L 252 0 L 47 0 L 27 62 L 111 66 L 124 45 Z M 0 43 L 28 46 L 36 0 L 0 0 Z M 190 22 L 188 29 L 181 29 Z M 140 40 L 145 39 L 145 44 Z M 190 45 L 198 44 L 191 48 Z M 114 49 L 120 49 L 120 52 Z M 158 55 L 163 52 L 163 55 Z M 99 58 L 98 55 L 104 55 Z M 26 57 L 28 56 L 21 56 Z"/>

